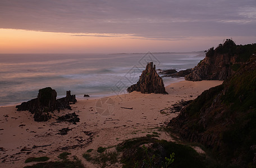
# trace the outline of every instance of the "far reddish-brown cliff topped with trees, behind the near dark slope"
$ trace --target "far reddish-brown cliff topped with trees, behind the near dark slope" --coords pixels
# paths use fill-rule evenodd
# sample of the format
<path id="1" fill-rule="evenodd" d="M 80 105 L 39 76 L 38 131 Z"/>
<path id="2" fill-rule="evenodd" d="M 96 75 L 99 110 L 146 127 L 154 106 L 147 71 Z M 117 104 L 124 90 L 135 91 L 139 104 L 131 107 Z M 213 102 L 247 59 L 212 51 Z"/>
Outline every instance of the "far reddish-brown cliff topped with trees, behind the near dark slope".
<path id="1" fill-rule="evenodd" d="M 234 41 L 227 39 L 216 49 L 209 49 L 205 58 L 185 76 L 185 80 L 226 80 L 249 59 L 244 55 L 252 55 L 255 48 L 255 44 L 236 45 Z"/>

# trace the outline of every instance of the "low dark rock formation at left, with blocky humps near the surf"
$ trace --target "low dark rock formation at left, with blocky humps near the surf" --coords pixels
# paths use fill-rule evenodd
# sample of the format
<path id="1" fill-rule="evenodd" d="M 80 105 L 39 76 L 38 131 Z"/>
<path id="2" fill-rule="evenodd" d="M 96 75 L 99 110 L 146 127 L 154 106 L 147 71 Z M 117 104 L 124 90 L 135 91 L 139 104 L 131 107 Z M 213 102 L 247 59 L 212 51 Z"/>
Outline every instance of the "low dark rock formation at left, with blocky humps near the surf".
<path id="1" fill-rule="evenodd" d="M 71 95 L 70 91 L 67 91 L 66 97 L 57 99 L 57 92 L 51 87 L 42 88 L 39 90 L 38 97 L 27 102 L 22 102 L 21 105 L 17 105 L 17 111 L 29 110 L 34 114 L 34 120 L 36 122 L 45 122 L 51 119 L 51 114 L 54 110 L 71 109 L 70 103 L 75 104 L 75 95 Z"/>

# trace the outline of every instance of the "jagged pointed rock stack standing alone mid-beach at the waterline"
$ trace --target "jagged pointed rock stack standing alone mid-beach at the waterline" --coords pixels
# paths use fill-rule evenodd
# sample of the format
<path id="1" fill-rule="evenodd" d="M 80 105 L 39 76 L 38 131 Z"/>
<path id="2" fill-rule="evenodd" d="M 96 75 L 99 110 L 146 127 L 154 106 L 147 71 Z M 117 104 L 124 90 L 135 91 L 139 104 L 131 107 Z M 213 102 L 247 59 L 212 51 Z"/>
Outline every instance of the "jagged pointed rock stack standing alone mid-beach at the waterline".
<path id="1" fill-rule="evenodd" d="M 132 91 L 139 91 L 143 94 L 168 94 L 164 88 L 162 78 L 157 74 L 156 65 L 153 66 L 153 62 L 147 64 L 139 81 L 127 88 L 127 92 Z"/>

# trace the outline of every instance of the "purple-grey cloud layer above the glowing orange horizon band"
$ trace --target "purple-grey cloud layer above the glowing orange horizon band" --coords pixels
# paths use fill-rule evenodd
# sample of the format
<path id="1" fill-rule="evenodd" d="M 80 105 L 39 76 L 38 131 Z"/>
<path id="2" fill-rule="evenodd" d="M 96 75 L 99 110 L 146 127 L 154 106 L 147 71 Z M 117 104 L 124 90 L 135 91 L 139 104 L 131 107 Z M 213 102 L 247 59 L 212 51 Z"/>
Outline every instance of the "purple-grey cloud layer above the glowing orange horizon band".
<path id="1" fill-rule="evenodd" d="M 255 0 L 1 0 L 0 28 L 148 39 L 252 35 L 255 8 Z"/>

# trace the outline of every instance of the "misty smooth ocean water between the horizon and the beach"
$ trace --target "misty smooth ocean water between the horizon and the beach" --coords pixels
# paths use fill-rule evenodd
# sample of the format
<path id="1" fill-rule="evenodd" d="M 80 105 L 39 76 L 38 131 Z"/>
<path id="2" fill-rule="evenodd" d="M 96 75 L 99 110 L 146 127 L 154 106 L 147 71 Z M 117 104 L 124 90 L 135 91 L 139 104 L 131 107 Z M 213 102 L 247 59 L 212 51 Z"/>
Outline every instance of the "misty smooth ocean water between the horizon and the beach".
<path id="1" fill-rule="evenodd" d="M 147 62 L 156 69 L 181 71 L 196 66 L 204 52 L 136 54 L 0 54 L 0 106 L 34 99 L 52 87 L 57 98 L 70 90 L 76 98 L 125 94 L 139 80 Z M 164 77 L 164 85 L 184 78 Z"/>

